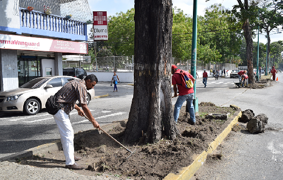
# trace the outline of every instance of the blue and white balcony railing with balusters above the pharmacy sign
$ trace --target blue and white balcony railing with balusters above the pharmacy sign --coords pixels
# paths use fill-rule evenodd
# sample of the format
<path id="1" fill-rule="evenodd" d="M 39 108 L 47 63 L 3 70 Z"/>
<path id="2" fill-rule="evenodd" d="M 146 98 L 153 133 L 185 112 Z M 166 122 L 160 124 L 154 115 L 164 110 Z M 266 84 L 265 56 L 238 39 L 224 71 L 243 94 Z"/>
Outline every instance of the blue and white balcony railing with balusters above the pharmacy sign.
<path id="1" fill-rule="evenodd" d="M 58 15 L 47 15 L 40 11 L 28 11 L 27 9 L 20 9 L 20 25 L 30 29 L 86 35 L 86 23 L 84 22 L 68 20 Z"/>

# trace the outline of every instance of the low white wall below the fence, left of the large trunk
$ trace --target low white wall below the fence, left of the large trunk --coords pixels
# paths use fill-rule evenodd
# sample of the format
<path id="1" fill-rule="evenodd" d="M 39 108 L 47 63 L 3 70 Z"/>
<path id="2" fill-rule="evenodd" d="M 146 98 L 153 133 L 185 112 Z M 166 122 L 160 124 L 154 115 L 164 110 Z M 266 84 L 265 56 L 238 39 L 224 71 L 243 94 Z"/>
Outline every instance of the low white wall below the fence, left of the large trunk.
<path id="1" fill-rule="evenodd" d="M 112 77 L 114 75 L 113 72 L 87 72 L 87 75 L 94 74 L 98 82 L 110 82 L 112 80 Z M 121 83 L 134 83 L 134 73 L 133 72 L 127 72 L 122 73 L 118 72 L 116 73 L 118 75 L 118 78 Z"/>

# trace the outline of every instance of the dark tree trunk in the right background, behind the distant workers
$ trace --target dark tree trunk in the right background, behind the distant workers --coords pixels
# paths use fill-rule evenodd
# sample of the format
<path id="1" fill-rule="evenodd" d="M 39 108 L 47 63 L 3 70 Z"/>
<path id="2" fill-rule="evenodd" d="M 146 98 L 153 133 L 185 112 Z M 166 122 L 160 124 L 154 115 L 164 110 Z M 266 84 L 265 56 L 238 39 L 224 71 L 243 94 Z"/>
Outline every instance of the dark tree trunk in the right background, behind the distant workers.
<path id="1" fill-rule="evenodd" d="M 244 37 L 246 41 L 246 61 L 247 71 L 249 76 L 249 84 L 254 83 L 254 66 L 253 66 L 253 35 L 250 27 L 249 19 L 247 19 L 243 26 Z"/>

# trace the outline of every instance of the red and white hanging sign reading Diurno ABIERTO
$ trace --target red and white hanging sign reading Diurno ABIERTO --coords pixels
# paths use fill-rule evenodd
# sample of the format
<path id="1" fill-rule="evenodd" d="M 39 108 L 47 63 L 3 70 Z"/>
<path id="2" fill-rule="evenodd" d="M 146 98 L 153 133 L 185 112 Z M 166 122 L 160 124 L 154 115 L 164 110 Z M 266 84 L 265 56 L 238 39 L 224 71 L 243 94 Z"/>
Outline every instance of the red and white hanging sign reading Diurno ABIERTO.
<path id="1" fill-rule="evenodd" d="M 108 41 L 107 11 L 93 11 L 94 41 Z"/>

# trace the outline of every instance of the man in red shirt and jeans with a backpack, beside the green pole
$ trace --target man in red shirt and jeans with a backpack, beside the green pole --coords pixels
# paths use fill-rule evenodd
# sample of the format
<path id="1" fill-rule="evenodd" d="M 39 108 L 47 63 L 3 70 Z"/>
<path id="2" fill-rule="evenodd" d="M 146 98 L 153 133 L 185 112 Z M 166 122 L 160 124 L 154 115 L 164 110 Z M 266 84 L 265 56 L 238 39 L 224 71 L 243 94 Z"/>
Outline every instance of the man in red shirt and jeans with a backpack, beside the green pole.
<path id="1" fill-rule="evenodd" d="M 187 109 L 189 110 L 190 114 L 190 120 L 192 124 L 196 124 L 196 116 L 194 115 L 194 107 L 193 107 L 193 97 L 194 97 L 194 92 L 193 92 L 193 87 L 192 88 L 186 88 L 182 86 L 182 77 L 181 74 L 176 73 L 180 72 L 181 69 L 178 69 L 177 66 L 172 65 L 171 67 L 171 74 L 172 74 L 172 84 L 173 84 L 173 90 L 174 90 L 174 96 L 177 97 L 178 99 L 174 105 L 174 121 L 175 123 L 178 122 L 179 118 L 179 113 L 180 109 L 185 101 L 187 101 Z M 184 70 L 183 70 L 184 71 Z M 196 79 L 194 79 L 187 71 L 184 71 L 186 75 L 191 79 L 191 81 L 194 83 Z M 177 86 L 179 90 L 179 95 L 177 95 Z"/>

